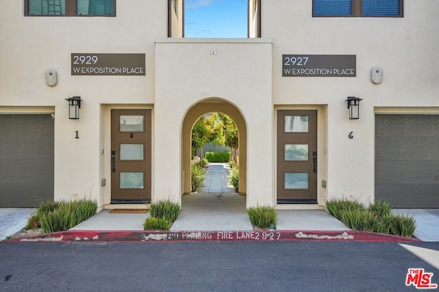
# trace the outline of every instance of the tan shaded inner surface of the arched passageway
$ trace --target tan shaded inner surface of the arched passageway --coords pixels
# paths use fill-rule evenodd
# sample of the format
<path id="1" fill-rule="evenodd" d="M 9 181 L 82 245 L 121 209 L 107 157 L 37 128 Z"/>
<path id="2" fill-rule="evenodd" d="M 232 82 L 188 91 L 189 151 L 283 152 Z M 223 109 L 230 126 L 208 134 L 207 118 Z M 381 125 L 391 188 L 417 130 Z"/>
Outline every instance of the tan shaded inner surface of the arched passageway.
<path id="1" fill-rule="evenodd" d="M 182 192 L 189 194 L 191 192 L 191 160 L 192 153 L 192 129 L 195 122 L 211 112 L 219 112 L 229 116 L 237 126 L 239 131 L 239 194 L 246 194 L 246 165 L 247 165 L 247 127 L 244 117 L 235 105 L 228 103 L 220 98 L 209 98 L 197 103 L 187 111 L 182 124 L 182 150 L 181 150 L 181 175 L 182 175 Z"/>

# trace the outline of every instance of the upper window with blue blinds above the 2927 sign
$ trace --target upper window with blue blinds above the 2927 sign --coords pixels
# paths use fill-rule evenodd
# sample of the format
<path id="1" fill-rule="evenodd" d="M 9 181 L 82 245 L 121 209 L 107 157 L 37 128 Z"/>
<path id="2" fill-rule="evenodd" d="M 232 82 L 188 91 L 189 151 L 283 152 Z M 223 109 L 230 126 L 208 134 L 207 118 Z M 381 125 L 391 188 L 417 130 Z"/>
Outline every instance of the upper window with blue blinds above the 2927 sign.
<path id="1" fill-rule="evenodd" d="M 313 16 L 402 17 L 403 0 L 313 0 Z"/>

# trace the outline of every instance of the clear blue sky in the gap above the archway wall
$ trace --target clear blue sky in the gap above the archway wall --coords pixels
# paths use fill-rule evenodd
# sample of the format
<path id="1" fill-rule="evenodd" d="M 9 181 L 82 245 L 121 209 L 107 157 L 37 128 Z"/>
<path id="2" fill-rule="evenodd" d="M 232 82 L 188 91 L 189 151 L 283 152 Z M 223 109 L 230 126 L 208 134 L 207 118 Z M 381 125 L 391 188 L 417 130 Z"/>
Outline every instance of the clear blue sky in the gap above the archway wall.
<path id="1" fill-rule="evenodd" d="M 185 38 L 247 38 L 248 0 L 185 0 Z"/>

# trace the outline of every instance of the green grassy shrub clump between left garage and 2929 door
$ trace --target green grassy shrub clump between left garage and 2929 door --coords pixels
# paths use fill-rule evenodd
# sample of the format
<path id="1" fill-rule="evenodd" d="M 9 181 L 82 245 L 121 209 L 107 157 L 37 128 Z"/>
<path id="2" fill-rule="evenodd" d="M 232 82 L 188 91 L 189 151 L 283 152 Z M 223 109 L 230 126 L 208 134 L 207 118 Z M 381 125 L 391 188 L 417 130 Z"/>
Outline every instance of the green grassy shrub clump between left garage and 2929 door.
<path id="1" fill-rule="evenodd" d="M 37 207 L 36 214 L 43 232 L 52 233 L 69 230 L 95 215 L 96 209 L 96 201 L 86 198 L 78 201 L 46 201 Z M 36 219 L 29 217 L 28 226 L 36 224 L 35 222 L 30 222 L 30 220 Z"/>

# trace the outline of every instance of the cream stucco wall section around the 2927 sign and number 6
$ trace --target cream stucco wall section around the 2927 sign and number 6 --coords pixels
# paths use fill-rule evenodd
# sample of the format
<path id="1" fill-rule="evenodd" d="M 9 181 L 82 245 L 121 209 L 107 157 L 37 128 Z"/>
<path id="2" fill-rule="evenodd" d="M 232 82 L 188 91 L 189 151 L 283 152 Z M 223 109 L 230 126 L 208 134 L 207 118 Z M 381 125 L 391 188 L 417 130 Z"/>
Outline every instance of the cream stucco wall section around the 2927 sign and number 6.
<path id="1" fill-rule="evenodd" d="M 262 3 L 262 36 L 274 39 L 273 103 L 327 105 L 328 196 L 373 201 L 374 108 L 439 105 L 439 3 L 404 1 L 403 18 L 313 18 L 311 9 L 310 0 Z M 282 77 L 283 54 L 357 55 L 357 77 Z M 381 84 L 370 81 L 372 66 L 383 68 Z M 348 120 L 347 96 L 364 98 L 359 120 Z"/>

